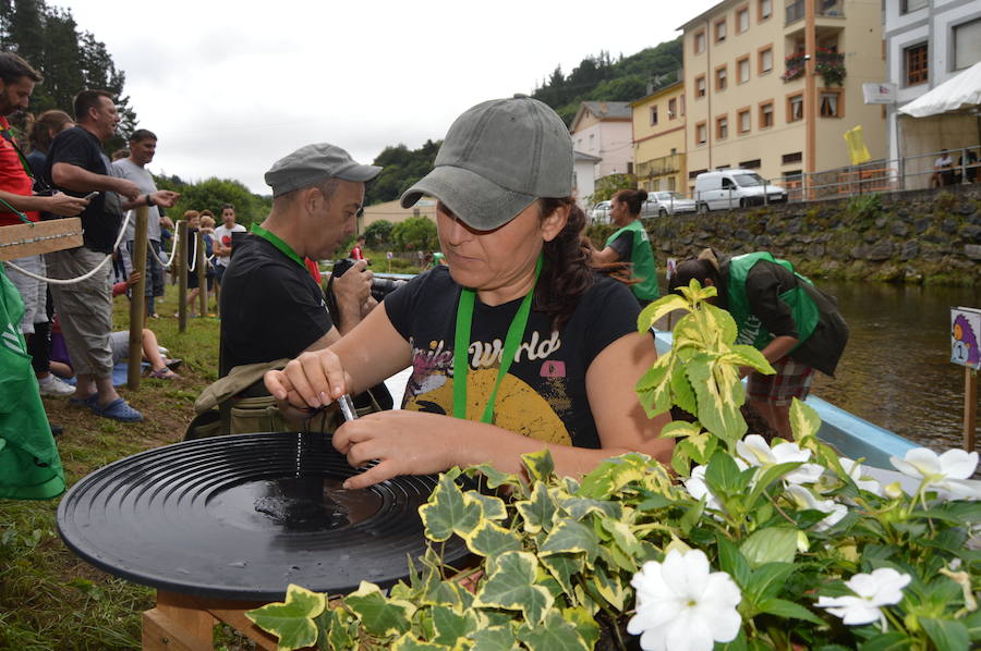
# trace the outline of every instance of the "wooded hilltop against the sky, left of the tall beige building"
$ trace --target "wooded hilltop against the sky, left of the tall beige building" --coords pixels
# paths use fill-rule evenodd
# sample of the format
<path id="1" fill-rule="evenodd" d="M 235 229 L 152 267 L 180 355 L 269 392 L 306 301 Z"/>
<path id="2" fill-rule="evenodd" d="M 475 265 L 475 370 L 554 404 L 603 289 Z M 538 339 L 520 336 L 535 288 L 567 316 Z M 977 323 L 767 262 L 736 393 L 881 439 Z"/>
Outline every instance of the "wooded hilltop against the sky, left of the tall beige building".
<path id="1" fill-rule="evenodd" d="M 532 97 L 556 110 L 566 124 L 572 122 L 582 101 L 633 101 L 655 86 L 675 78 L 681 69 L 681 38 L 646 48 L 613 61 L 609 52 L 590 56 L 567 76 L 557 66 Z"/>

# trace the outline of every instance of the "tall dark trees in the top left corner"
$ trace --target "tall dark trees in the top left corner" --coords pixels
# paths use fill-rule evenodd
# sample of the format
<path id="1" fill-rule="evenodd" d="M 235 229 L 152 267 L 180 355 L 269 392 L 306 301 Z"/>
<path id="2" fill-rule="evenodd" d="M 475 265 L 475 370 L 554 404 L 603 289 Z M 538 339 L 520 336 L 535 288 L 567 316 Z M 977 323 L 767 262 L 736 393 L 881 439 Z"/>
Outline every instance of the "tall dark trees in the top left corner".
<path id="1" fill-rule="evenodd" d="M 78 29 L 71 10 L 44 0 L 0 1 L 0 48 L 20 54 L 44 76 L 31 97 L 36 114 L 50 109 L 71 114 L 72 99 L 86 88 L 114 95 L 122 135 L 106 143 L 106 150 L 125 145 L 125 135 L 136 128 L 136 112 L 123 94 L 126 75 L 117 70 L 102 41 Z"/>

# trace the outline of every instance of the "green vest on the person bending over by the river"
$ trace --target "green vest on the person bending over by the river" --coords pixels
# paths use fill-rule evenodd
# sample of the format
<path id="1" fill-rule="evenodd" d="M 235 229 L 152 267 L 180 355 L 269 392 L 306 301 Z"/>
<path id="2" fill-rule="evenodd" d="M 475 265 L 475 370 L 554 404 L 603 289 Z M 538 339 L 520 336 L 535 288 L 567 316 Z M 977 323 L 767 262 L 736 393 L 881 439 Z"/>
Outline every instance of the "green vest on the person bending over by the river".
<path id="1" fill-rule="evenodd" d="M 811 283 L 809 279 L 794 271 L 794 265 L 787 260 L 774 258 L 773 255 L 765 251 L 736 256 L 729 261 L 729 283 L 727 285 L 729 294 L 728 310 L 736 321 L 736 327 L 739 329 L 739 334 L 736 335 L 736 343 L 749 344 L 754 348 L 762 351 L 766 347 L 766 344 L 773 341 L 773 334 L 771 334 L 770 331 L 763 327 L 760 319 L 750 311 L 749 298 L 746 295 L 746 279 L 749 275 L 750 269 L 752 269 L 760 260 L 776 262 L 796 275 L 798 281 L 808 284 L 813 283 Z M 821 318 L 821 315 L 818 311 L 818 305 L 810 296 L 808 296 L 808 293 L 804 292 L 803 287 L 800 285 L 780 294 L 779 299 L 790 306 L 790 312 L 794 315 L 794 320 L 797 322 L 797 333 L 800 336 L 800 341 L 797 343 L 797 346 L 799 346 L 804 340 L 811 336 L 811 333 L 814 332 L 814 328 L 818 326 L 818 321 Z M 794 346 L 794 348 L 796 349 L 797 346 Z"/>

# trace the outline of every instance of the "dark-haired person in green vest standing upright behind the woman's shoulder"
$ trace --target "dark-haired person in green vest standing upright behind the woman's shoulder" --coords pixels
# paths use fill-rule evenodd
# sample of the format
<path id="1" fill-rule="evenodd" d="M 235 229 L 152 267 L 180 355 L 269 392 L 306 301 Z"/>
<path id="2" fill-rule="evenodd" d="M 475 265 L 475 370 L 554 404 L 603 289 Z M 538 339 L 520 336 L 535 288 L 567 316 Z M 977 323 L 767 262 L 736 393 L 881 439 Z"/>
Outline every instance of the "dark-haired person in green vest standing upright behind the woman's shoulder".
<path id="1" fill-rule="evenodd" d="M 658 296 L 657 268 L 647 231 L 640 221 L 641 206 L 647 198 L 642 189 L 621 189 L 609 202 L 609 218 L 620 229 L 606 239 L 603 250 L 593 251 L 593 261 L 602 265 L 626 262 L 634 281 L 630 288 L 641 307 Z"/>

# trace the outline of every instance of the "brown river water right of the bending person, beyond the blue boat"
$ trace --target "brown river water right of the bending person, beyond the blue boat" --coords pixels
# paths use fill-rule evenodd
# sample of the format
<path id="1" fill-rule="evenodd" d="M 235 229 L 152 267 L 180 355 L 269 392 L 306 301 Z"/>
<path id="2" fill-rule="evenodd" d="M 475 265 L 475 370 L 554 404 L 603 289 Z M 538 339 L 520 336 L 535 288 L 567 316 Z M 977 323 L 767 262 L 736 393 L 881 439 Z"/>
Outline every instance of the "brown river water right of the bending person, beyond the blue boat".
<path id="1" fill-rule="evenodd" d="M 850 337 L 836 377 L 813 393 L 937 451 L 962 445 L 964 367 L 950 364 L 950 308 L 981 308 L 981 287 L 818 281 Z"/>

